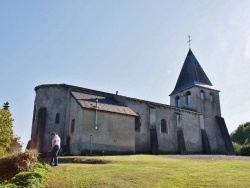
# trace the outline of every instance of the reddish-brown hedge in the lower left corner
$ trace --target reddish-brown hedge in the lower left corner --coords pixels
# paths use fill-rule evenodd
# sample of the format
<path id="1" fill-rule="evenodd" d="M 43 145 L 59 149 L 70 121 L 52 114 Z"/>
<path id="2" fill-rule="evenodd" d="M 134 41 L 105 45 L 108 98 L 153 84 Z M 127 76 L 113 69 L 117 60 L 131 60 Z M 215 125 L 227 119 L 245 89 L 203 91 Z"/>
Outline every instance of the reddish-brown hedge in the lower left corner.
<path id="1" fill-rule="evenodd" d="M 21 171 L 28 171 L 37 163 L 38 152 L 27 150 L 0 158 L 0 180 L 9 180 Z"/>

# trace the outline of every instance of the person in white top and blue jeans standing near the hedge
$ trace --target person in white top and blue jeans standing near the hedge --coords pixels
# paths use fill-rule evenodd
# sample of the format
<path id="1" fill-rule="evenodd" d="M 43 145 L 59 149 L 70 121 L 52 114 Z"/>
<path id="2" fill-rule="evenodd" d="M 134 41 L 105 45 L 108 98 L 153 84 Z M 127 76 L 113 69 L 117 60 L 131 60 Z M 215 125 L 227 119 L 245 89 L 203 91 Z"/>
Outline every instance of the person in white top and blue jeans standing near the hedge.
<path id="1" fill-rule="evenodd" d="M 56 133 L 51 133 L 52 147 L 51 147 L 51 160 L 50 165 L 58 166 L 58 152 L 60 150 L 61 139 Z M 53 165 L 54 163 L 54 165 Z"/>

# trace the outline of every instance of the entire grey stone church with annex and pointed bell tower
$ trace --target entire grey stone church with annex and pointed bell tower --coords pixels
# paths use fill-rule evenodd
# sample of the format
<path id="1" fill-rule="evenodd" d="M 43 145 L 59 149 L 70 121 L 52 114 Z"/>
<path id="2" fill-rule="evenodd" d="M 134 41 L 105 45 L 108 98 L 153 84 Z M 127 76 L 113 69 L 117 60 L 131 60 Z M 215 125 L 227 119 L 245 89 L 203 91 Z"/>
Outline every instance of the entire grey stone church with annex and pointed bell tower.
<path id="1" fill-rule="evenodd" d="M 35 91 L 31 142 L 41 153 L 56 132 L 71 155 L 234 154 L 219 90 L 191 49 L 170 105 L 66 84 Z"/>

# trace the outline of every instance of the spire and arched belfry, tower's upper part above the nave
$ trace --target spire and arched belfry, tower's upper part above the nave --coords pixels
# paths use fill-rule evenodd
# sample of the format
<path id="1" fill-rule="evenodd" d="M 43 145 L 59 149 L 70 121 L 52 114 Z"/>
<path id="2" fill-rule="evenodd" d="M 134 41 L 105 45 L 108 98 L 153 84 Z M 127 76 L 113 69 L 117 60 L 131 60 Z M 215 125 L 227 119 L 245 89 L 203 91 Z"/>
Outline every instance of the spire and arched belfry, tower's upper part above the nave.
<path id="1" fill-rule="evenodd" d="M 219 90 L 213 87 L 191 49 L 170 94 L 170 105 L 205 116 L 221 116 Z"/>

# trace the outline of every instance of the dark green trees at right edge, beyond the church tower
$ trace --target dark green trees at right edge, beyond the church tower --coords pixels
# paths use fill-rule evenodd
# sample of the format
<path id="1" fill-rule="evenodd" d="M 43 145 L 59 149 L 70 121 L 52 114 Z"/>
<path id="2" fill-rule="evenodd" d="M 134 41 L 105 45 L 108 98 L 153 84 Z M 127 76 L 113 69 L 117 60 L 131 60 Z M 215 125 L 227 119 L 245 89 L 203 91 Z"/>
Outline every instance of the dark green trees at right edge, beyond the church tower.
<path id="1" fill-rule="evenodd" d="M 250 156 L 250 122 L 246 122 L 231 133 L 231 139 L 237 155 Z"/>

